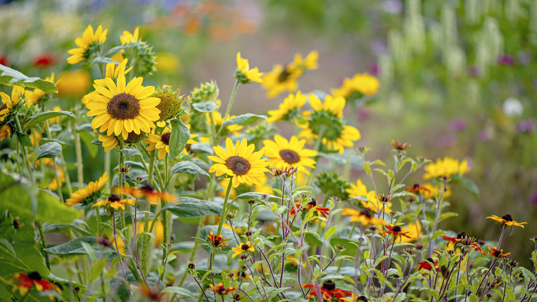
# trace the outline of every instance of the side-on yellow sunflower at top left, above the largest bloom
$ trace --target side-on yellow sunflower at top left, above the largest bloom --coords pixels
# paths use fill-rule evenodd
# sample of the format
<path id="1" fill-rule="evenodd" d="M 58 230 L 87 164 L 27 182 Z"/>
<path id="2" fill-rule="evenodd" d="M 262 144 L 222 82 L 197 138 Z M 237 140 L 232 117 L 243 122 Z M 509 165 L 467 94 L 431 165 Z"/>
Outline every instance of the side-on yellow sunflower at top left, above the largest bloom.
<path id="1" fill-rule="evenodd" d="M 71 57 L 67 58 L 67 63 L 72 65 L 89 59 L 89 56 L 101 50 L 101 46 L 106 41 L 106 34 L 108 30 L 103 30 L 103 26 L 98 26 L 97 30 L 94 32 L 92 26 L 87 26 L 84 30 L 82 37 L 76 38 L 74 43 L 78 48 L 72 48 L 67 50 L 68 54 L 71 54 Z"/>

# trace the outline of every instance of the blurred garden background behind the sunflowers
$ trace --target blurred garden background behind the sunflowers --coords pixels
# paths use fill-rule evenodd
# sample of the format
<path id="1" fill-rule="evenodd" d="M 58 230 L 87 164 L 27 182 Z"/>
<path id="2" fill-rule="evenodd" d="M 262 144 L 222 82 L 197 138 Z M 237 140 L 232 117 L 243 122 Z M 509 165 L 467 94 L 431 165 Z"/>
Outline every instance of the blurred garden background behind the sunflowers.
<path id="1" fill-rule="evenodd" d="M 383 160 L 392 139 L 411 143 L 413 157 L 467 159 L 472 168 L 467 177 L 481 194 L 457 187 L 450 210 L 459 216 L 441 227 L 493 240 L 496 227 L 484 217 L 509 212 L 528 222 L 506 243 L 514 259 L 529 265 L 523 259 L 534 248 L 529 238 L 537 236 L 536 0 L 0 3 L 0 63 L 30 76 L 54 72 L 62 101 L 80 101 L 91 88 L 89 75 L 99 77 L 98 70 L 65 61 L 88 24 L 108 28 L 109 47 L 118 45 L 123 30 L 139 26 L 159 63 L 145 83 L 181 85 L 185 94 L 213 79 L 227 99 L 238 51 L 268 72 L 297 52 L 318 50 L 319 69 L 300 79 L 302 92 L 329 92 L 345 77 L 374 74 L 381 81 L 379 93 L 357 103 L 355 114 L 347 112 L 361 130 L 359 145 Z M 244 86 L 233 113 L 266 112 L 285 97 L 266 101 L 264 94 L 261 85 Z M 51 102 L 50 109 L 62 101 Z M 101 161 L 87 146 L 87 160 Z M 351 182 L 365 178 L 352 172 Z M 101 172 L 85 173 L 96 179 Z"/>

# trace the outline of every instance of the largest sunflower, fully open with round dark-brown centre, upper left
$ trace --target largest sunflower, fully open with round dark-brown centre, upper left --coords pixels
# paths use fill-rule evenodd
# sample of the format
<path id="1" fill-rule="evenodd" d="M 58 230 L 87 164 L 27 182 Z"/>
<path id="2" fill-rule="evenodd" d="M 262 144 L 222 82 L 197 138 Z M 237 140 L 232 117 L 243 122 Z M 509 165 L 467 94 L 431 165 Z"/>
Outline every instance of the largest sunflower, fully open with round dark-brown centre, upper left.
<path id="1" fill-rule="evenodd" d="M 122 135 L 127 139 L 129 132 L 151 132 L 154 121 L 158 121 L 160 110 L 156 105 L 160 99 L 149 97 L 155 92 L 153 86 L 144 87 L 143 78 L 135 77 L 125 85 L 125 74 L 118 74 L 117 85 L 111 78 L 105 78 L 106 86 L 94 84 L 98 94 L 87 103 L 87 115 L 95 117 L 92 128 L 99 128 L 107 135 Z"/>

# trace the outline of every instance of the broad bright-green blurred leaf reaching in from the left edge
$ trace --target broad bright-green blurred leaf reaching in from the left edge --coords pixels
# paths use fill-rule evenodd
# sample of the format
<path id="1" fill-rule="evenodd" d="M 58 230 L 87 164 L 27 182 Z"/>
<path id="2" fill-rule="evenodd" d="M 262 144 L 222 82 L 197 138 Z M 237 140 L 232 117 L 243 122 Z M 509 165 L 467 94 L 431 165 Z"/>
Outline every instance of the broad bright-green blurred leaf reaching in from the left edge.
<path id="1" fill-rule="evenodd" d="M 0 172 L 0 210 L 8 210 L 22 219 L 39 222 L 69 223 L 78 217 L 76 210 L 61 203 L 50 192 L 34 194 L 8 174 Z"/>

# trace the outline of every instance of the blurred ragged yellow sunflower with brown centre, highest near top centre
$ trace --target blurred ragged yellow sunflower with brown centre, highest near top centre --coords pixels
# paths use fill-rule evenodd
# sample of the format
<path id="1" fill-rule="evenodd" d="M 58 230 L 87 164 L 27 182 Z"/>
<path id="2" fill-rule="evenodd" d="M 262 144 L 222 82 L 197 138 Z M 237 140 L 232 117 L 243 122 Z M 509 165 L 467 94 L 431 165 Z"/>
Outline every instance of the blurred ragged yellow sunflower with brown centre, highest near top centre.
<path id="1" fill-rule="evenodd" d="M 268 89 L 267 97 L 272 99 L 286 90 L 291 92 L 297 90 L 297 79 L 304 74 L 304 70 L 317 68 L 318 57 L 318 52 L 314 50 L 304 59 L 301 54 L 295 54 L 294 61 L 286 67 L 275 65 L 273 70 L 263 77 L 263 86 Z"/>

